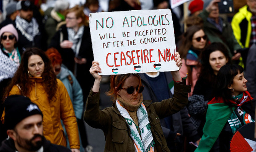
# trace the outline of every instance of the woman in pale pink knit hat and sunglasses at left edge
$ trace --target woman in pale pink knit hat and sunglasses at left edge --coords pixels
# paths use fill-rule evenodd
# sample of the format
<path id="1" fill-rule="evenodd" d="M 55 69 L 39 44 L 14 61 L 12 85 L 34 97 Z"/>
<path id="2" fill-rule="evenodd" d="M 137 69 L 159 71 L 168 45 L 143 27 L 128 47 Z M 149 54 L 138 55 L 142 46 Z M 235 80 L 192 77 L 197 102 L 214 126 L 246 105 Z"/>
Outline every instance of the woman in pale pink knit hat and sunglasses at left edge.
<path id="1" fill-rule="evenodd" d="M 19 36 L 13 24 L 8 24 L 1 28 L 0 39 L 0 114 L 2 115 L 3 94 L 20 64 L 23 49 L 16 45 Z M 0 142 L 5 138 L 6 133 L 2 129 L 2 123 L 0 122 Z"/>

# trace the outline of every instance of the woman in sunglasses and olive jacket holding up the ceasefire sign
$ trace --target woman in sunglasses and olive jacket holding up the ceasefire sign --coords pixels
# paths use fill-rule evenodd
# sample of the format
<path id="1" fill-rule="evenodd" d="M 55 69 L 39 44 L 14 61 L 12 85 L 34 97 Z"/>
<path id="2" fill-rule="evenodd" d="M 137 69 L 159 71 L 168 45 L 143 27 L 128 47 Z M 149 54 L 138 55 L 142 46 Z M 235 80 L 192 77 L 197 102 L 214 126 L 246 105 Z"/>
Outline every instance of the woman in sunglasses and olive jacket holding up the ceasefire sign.
<path id="1" fill-rule="evenodd" d="M 179 53 L 175 54 L 176 65 L 181 68 Z M 90 73 L 94 85 L 89 93 L 84 111 L 84 120 L 105 135 L 106 152 L 170 152 L 160 125 L 160 119 L 183 109 L 188 101 L 191 86 L 185 85 L 180 72 L 171 71 L 174 82 L 173 98 L 154 102 L 143 100 L 143 89 L 139 74 L 112 75 L 110 90 L 112 107 L 99 109 L 100 81 L 99 62 L 93 61 Z"/>

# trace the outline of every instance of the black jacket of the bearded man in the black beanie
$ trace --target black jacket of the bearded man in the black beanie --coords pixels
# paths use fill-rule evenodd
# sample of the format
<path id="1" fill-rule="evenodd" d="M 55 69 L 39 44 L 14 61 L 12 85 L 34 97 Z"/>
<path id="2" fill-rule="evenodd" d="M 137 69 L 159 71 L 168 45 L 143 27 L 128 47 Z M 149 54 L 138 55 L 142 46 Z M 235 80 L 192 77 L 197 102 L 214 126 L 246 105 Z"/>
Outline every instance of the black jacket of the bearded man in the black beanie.
<path id="1" fill-rule="evenodd" d="M 50 143 L 50 141 L 45 138 L 42 139 L 44 152 L 71 152 L 70 149 Z M 15 144 L 13 139 L 6 139 L 2 142 L 2 146 L 0 147 L 0 152 L 16 152 Z"/>

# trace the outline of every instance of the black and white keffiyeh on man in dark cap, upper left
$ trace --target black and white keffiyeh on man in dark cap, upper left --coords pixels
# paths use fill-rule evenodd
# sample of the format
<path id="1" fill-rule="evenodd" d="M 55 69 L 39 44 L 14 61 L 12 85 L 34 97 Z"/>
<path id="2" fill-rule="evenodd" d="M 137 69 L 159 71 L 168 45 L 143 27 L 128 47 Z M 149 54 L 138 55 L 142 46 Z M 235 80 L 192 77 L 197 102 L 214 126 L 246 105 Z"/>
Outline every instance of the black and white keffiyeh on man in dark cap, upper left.
<path id="1" fill-rule="evenodd" d="M 15 20 L 16 28 L 24 35 L 29 41 L 33 41 L 36 35 L 39 35 L 39 25 L 36 19 L 33 17 L 31 22 L 26 21 L 20 16 L 16 17 Z"/>

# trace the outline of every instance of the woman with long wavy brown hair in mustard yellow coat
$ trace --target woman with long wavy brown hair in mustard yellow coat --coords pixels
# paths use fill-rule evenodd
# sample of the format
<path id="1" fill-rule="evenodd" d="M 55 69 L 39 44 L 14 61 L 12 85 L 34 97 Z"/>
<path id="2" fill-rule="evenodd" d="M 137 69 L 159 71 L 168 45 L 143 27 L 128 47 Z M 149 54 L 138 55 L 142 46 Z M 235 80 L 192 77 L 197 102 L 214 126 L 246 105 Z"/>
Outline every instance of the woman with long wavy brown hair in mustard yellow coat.
<path id="1" fill-rule="evenodd" d="M 49 58 L 41 49 L 32 47 L 23 53 L 21 64 L 5 92 L 6 96 L 15 94 L 29 97 L 39 106 L 44 115 L 45 138 L 53 144 L 66 146 L 60 122 L 62 119 L 71 151 L 79 152 L 78 126 L 70 97 L 64 84 L 56 78 Z"/>

